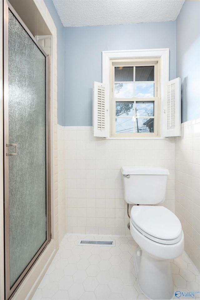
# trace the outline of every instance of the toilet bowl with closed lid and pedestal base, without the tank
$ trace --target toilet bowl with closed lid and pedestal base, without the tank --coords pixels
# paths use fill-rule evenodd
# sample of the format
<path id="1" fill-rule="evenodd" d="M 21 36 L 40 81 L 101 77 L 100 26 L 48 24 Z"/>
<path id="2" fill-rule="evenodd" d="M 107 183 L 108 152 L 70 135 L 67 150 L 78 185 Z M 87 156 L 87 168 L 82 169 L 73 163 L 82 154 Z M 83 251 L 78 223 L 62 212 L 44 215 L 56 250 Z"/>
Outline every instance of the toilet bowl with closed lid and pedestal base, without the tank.
<path id="1" fill-rule="evenodd" d="M 151 214 L 147 216 L 148 211 Z M 140 217 L 139 227 L 136 222 Z M 133 206 L 131 210 L 131 235 L 141 249 L 137 249 L 134 255 L 138 285 L 149 299 L 172 299 L 174 296 L 169 259 L 183 252 L 184 236 L 179 223 L 178 218 L 163 206 Z M 164 227 L 168 230 L 164 231 Z"/>

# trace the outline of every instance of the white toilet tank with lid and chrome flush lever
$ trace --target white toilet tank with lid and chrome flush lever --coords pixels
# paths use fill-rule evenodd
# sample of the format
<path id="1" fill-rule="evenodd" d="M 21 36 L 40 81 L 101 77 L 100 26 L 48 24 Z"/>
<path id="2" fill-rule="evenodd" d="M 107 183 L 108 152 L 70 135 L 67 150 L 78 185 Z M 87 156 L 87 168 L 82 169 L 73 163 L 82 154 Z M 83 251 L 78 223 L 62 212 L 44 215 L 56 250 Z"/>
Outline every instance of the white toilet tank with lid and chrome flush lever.
<path id="1" fill-rule="evenodd" d="M 160 204 L 165 200 L 169 171 L 155 166 L 121 168 L 124 199 L 129 204 Z"/>

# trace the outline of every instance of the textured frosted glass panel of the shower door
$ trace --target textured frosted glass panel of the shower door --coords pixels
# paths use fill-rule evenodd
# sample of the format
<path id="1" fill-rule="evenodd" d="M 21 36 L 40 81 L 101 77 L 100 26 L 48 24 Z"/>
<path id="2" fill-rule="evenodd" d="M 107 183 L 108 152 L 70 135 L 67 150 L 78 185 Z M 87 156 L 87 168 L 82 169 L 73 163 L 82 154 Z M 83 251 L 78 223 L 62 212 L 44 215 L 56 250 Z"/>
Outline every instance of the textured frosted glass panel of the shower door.
<path id="1" fill-rule="evenodd" d="M 46 241 L 45 135 L 45 56 L 9 11 L 10 287 Z"/>

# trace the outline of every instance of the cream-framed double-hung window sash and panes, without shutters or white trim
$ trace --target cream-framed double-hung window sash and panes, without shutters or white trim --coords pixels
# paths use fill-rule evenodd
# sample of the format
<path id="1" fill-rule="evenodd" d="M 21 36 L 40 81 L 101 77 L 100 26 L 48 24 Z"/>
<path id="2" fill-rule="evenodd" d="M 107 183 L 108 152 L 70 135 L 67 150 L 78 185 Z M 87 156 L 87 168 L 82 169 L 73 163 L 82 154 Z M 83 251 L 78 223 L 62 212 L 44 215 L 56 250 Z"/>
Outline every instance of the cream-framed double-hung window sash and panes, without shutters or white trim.
<path id="1" fill-rule="evenodd" d="M 159 59 L 110 60 L 111 137 L 155 137 Z"/>

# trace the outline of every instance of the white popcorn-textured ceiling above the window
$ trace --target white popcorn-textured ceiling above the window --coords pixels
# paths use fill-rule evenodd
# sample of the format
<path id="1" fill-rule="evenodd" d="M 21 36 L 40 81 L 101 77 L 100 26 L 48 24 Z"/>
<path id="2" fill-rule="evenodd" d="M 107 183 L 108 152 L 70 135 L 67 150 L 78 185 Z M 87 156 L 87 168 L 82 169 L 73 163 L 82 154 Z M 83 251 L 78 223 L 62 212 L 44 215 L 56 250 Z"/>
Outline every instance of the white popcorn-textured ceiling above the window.
<path id="1" fill-rule="evenodd" d="M 64 27 L 174 21 L 182 0 L 53 0 Z"/>

